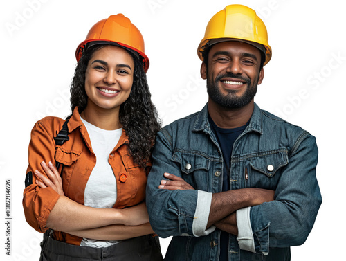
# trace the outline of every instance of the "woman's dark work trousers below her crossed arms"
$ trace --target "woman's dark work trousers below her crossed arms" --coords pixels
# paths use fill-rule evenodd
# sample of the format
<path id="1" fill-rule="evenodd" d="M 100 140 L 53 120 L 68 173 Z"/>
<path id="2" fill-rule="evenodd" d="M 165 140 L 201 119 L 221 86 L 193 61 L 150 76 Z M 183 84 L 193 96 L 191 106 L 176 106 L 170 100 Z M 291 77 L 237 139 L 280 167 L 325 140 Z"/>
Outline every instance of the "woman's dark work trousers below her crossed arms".
<path id="1" fill-rule="evenodd" d="M 158 237 L 144 235 L 108 247 L 75 246 L 54 240 L 44 233 L 40 261 L 161 261 Z"/>

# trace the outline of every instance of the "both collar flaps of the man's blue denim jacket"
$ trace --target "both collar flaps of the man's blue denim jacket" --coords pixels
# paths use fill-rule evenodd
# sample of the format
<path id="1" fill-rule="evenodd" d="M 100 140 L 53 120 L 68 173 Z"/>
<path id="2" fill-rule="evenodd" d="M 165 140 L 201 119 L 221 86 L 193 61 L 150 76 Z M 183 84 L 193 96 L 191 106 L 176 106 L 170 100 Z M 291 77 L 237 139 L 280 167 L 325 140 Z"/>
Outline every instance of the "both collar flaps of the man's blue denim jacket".
<path id="1" fill-rule="evenodd" d="M 194 122 L 194 132 L 204 131 L 208 134 L 210 134 L 210 124 L 208 120 L 208 102 L 203 107 L 201 111 L 199 111 L 197 115 L 197 119 Z M 245 132 L 259 132 L 260 134 L 263 133 L 263 126 L 262 126 L 262 111 L 260 107 L 257 106 L 255 103 L 253 108 L 253 115 L 250 118 L 250 122 L 248 123 L 248 127 L 246 127 Z"/>

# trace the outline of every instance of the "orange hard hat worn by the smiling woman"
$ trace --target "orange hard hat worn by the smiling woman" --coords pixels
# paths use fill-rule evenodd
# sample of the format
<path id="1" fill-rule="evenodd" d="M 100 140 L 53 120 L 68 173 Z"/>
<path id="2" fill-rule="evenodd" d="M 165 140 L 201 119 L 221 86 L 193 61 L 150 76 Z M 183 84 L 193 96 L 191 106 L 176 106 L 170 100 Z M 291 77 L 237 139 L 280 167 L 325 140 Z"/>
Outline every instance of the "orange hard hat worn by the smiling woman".
<path id="1" fill-rule="evenodd" d="M 111 15 L 107 19 L 98 21 L 86 35 L 85 41 L 78 45 L 75 51 L 77 62 L 88 46 L 95 44 L 113 44 L 122 46 L 139 55 L 143 62 L 145 73 L 149 68 L 149 58 L 144 53 L 144 39 L 138 28 L 130 19 L 122 14 Z"/>

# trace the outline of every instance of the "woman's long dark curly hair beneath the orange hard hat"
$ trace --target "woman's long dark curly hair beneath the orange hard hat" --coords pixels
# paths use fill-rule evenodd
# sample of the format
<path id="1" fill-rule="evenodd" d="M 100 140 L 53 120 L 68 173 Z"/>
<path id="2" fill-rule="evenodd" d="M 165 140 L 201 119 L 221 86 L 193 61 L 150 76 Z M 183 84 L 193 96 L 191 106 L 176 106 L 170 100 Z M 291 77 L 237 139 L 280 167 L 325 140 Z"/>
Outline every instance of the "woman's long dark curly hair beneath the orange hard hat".
<path id="1" fill-rule="evenodd" d="M 79 113 L 86 108 L 88 103 L 84 87 L 86 67 L 93 53 L 104 46 L 98 44 L 87 48 L 75 68 L 70 90 L 72 111 L 76 106 Z M 119 120 L 129 137 L 129 151 L 134 163 L 145 168 L 150 161 L 155 136 L 161 128 L 161 120 L 151 100 L 142 61 L 130 51 L 127 52 L 134 59 L 134 82 L 129 98 L 120 105 Z"/>

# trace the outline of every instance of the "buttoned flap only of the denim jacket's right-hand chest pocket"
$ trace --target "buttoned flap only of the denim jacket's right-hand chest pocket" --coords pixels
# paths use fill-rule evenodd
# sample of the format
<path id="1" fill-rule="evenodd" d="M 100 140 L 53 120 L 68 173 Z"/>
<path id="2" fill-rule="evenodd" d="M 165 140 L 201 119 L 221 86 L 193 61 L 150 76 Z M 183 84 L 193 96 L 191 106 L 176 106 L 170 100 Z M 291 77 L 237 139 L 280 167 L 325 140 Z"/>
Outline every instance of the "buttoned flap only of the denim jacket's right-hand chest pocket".
<path id="1" fill-rule="evenodd" d="M 251 168 L 265 174 L 267 177 L 273 177 L 287 163 L 289 163 L 289 157 L 286 149 L 262 152 L 251 157 L 250 160 Z"/>

